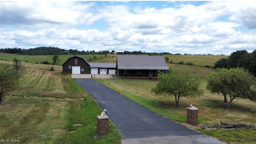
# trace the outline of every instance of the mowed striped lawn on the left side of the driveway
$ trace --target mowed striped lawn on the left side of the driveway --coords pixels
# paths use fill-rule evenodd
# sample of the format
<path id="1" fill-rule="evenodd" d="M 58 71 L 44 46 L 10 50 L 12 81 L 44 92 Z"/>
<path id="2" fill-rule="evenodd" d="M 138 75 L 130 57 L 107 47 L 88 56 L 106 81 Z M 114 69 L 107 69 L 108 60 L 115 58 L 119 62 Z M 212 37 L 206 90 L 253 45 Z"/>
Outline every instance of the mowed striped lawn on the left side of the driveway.
<path id="1" fill-rule="evenodd" d="M 0 61 L 0 68 L 9 65 Z M 24 63 L 22 89 L 9 93 L 0 106 L 0 139 L 27 144 L 120 144 L 122 136 L 109 123 L 109 134 L 97 134 L 102 110 L 61 68 Z"/>

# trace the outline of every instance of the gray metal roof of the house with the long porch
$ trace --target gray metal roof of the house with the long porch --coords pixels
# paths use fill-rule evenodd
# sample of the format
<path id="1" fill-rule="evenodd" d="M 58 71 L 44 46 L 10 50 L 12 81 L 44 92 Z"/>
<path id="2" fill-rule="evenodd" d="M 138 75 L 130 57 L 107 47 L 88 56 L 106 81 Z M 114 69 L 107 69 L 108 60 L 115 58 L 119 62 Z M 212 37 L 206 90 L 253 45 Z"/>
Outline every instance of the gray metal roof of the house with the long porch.
<path id="1" fill-rule="evenodd" d="M 117 67 L 120 70 L 170 70 L 164 56 L 118 55 Z"/>

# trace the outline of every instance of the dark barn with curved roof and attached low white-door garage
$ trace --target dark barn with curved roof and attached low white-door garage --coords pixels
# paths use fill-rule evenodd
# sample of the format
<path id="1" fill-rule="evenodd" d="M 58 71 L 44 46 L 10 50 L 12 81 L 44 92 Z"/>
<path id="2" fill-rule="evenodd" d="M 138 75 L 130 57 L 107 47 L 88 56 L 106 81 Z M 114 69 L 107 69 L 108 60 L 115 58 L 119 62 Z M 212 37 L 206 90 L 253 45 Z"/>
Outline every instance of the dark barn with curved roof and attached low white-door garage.
<path id="1" fill-rule="evenodd" d="M 62 73 L 116 74 L 116 63 L 90 63 L 85 58 L 73 56 L 62 64 Z"/>

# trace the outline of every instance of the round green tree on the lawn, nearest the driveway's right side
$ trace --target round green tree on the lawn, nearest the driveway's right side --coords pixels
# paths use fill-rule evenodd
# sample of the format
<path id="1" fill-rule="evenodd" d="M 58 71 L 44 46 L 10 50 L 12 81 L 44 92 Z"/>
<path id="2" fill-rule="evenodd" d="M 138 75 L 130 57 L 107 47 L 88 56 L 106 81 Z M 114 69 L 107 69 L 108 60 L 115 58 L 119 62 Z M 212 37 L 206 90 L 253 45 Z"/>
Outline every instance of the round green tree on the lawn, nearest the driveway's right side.
<path id="1" fill-rule="evenodd" d="M 166 74 L 159 72 L 158 83 L 151 92 L 156 95 L 174 96 L 176 106 L 179 106 L 181 97 L 197 97 L 204 94 L 199 89 L 201 82 L 199 76 L 192 76 L 189 72 L 168 71 Z"/>

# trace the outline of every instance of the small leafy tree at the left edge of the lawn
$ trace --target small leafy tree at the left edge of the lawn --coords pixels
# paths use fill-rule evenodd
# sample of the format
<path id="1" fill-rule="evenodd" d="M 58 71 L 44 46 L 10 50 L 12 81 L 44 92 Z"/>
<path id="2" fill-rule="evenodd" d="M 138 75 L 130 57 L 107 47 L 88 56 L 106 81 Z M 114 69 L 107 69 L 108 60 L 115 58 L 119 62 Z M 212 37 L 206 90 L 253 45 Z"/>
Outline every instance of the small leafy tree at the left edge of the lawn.
<path id="1" fill-rule="evenodd" d="M 14 90 L 18 87 L 17 83 L 17 74 L 15 71 L 12 71 L 8 68 L 4 70 L 0 70 L 0 104 L 2 104 L 2 100 L 4 94 Z"/>

